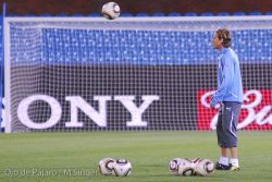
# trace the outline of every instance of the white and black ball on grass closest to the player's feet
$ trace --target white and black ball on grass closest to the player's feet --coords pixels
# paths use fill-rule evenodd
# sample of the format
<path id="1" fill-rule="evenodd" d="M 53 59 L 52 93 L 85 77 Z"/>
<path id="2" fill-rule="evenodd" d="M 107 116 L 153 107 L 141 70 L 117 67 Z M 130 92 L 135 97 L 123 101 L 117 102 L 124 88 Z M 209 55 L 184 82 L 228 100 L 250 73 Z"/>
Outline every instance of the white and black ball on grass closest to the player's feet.
<path id="1" fill-rule="evenodd" d="M 200 159 L 195 167 L 195 171 L 199 175 L 209 175 L 214 171 L 214 163 L 209 159 Z"/>

